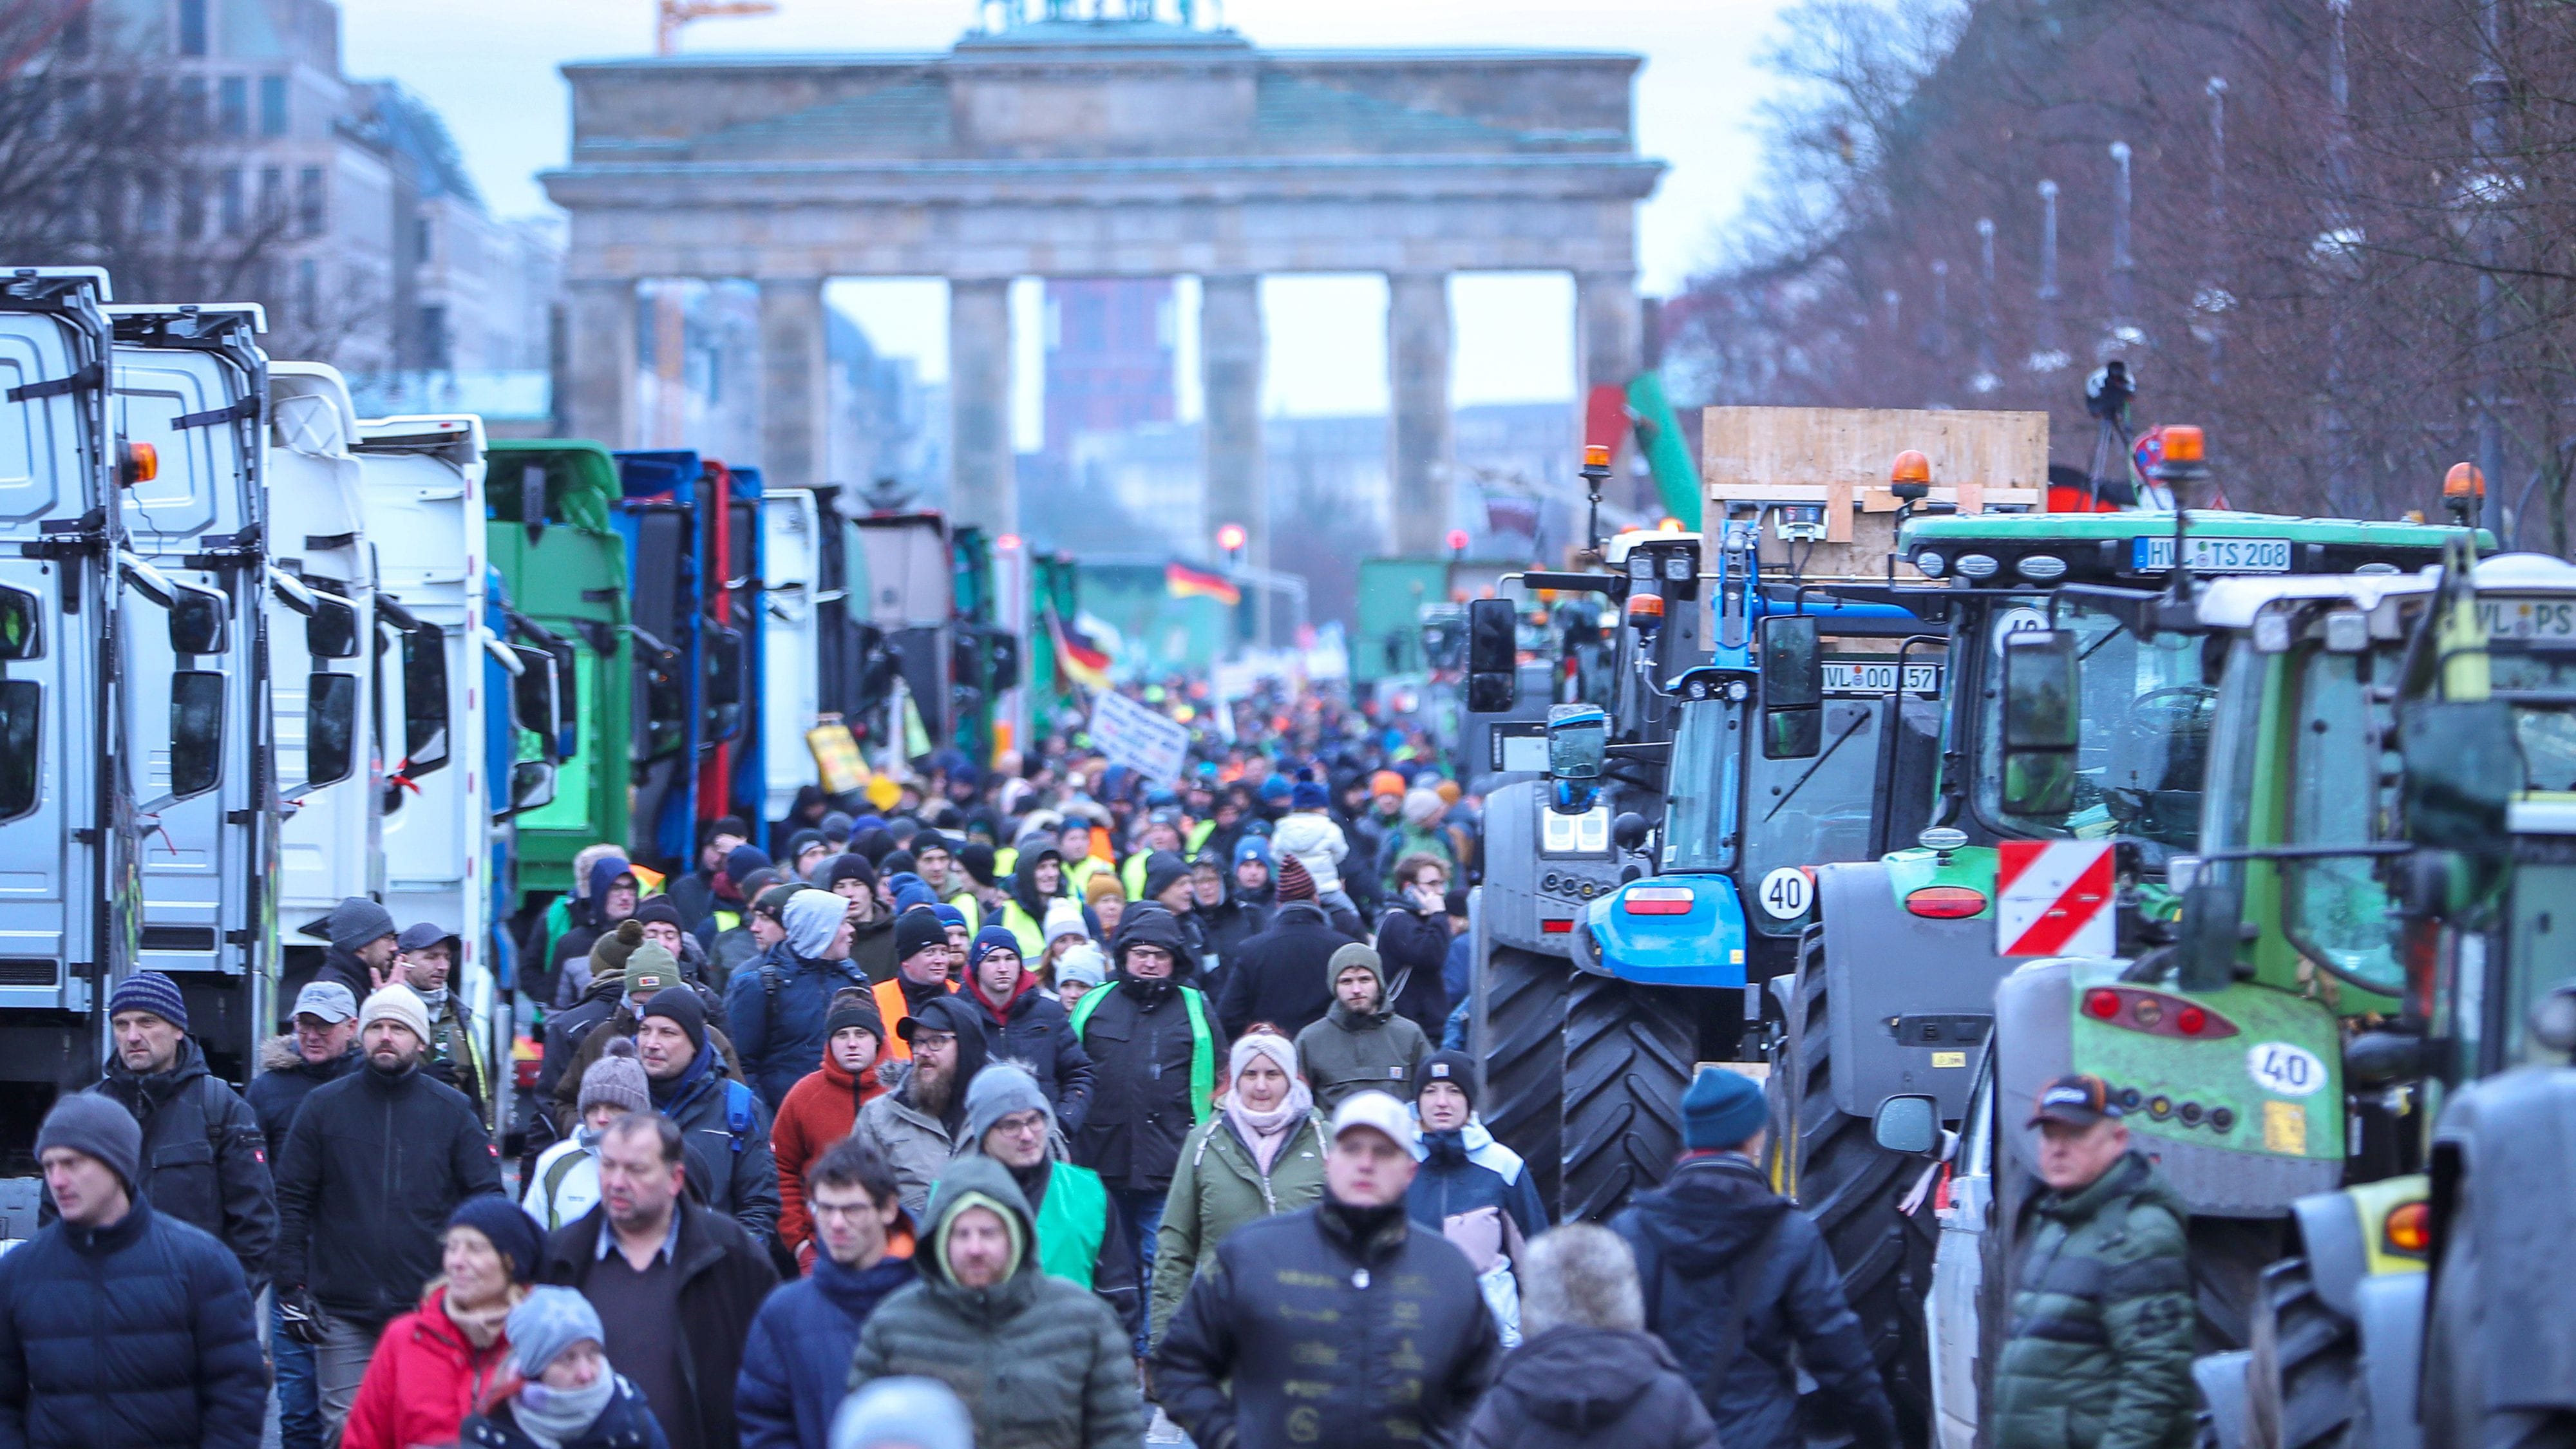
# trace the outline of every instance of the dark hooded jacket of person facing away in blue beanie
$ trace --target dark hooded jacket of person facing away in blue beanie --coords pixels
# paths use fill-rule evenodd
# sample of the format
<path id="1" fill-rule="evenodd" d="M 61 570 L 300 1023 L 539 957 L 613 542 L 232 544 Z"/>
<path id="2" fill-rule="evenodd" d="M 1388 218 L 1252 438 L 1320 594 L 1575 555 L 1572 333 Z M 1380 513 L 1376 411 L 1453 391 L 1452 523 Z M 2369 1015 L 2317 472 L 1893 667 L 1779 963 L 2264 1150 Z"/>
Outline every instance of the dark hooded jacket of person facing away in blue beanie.
<path id="1" fill-rule="evenodd" d="M 1687 1364 L 1726 1449 L 1798 1449 L 1798 1369 L 1862 1444 L 1896 1444 L 1870 1341 L 1824 1232 L 1736 1152 L 1700 1152 L 1610 1227 L 1636 1253 L 1646 1328 Z M 1731 1361 L 1718 1361 L 1741 1343 Z M 1795 1354 L 1795 1359 L 1793 1359 Z"/>

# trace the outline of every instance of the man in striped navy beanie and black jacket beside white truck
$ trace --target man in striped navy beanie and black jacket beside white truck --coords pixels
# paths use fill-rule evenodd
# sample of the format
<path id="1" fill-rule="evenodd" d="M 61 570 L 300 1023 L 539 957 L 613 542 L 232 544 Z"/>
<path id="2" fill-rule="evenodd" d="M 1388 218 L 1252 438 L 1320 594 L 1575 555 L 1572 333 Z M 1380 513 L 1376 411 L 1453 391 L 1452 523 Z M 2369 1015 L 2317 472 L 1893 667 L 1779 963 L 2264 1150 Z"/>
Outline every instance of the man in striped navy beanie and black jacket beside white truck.
<path id="1" fill-rule="evenodd" d="M 142 1127 L 134 1191 L 152 1212 L 232 1248 L 258 1292 L 278 1243 L 278 1196 L 260 1114 L 206 1070 L 206 1055 L 188 1036 L 188 1003 L 170 977 L 134 972 L 116 982 L 108 1036 L 108 1075 L 90 1091 Z"/>

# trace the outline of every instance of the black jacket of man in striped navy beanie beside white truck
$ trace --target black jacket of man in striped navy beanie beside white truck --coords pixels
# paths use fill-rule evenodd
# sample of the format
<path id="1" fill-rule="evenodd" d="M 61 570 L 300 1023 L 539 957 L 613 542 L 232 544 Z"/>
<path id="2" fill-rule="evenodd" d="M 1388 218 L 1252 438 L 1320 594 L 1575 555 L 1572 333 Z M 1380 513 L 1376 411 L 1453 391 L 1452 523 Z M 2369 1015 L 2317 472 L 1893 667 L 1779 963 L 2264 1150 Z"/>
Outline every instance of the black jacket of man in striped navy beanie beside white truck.
<path id="1" fill-rule="evenodd" d="M 178 1060 L 149 1078 L 108 1057 L 108 1078 L 90 1091 L 142 1122 L 144 1181 L 134 1186 L 152 1199 L 152 1209 L 232 1248 L 250 1292 L 260 1292 L 268 1253 L 278 1245 L 278 1194 L 260 1114 L 206 1070 L 193 1036 L 180 1036 Z"/>

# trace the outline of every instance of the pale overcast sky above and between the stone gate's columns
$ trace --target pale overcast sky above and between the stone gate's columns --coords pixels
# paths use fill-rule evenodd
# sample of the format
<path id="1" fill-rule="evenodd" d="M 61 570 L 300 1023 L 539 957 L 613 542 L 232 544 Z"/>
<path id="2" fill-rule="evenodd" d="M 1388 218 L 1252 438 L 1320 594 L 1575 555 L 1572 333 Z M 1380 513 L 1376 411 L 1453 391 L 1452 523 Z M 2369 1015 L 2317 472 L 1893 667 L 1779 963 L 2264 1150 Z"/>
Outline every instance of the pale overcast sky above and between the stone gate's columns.
<path id="1" fill-rule="evenodd" d="M 1265 46 L 1479 44 L 1643 54 L 1638 147 L 1672 165 L 1641 219 L 1638 260 L 1649 291 L 1669 291 L 1708 258 L 1716 227 L 1754 178 L 1749 121 L 1767 77 L 1752 57 L 1777 10 L 1777 0 L 1224 5 L 1226 21 Z M 536 173 L 564 162 L 567 93 L 556 67 L 649 52 L 654 0 L 343 0 L 343 13 L 348 72 L 394 77 L 438 106 L 495 214 L 526 217 L 546 209 Z M 685 49 L 917 52 L 945 49 L 971 23 L 971 0 L 781 0 L 778 15 L 690 26 Z M 842 284 L 835 302 L 860 315 L 889 351 L 920 356 L 933 376 L 945 374 L 938 289 Z M 1458 402 L 1571 397 L 1569 284 L 1468 278 L 1453 302 Z M 1301 415 L 1383 407 L 1383 286 L 1373 278 L 1267 284 L 1267 407 Z M 1023 302 L 1020 312 L 1033 307 Z"/>

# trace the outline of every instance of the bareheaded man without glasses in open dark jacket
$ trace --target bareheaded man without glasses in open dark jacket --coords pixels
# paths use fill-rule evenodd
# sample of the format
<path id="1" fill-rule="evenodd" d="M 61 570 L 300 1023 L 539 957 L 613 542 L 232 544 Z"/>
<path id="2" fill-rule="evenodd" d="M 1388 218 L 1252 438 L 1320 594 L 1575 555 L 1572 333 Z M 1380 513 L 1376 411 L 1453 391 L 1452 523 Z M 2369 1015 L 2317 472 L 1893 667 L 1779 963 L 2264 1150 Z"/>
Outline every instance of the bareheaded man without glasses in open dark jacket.
<path id="1" fill-rule="evenodd" d="M 608 1361 L 644 1392 L 670 1449 L 734 1449 L 742 1343 L 778 1274 L 750 1232 L 690 1199 L 688 1158 L 667 1116 L 611 1122 L 600 1204 L 546 1238 L 546 1281 L 598 1310 Z"/>

